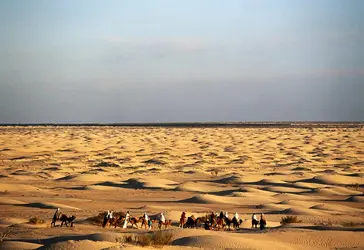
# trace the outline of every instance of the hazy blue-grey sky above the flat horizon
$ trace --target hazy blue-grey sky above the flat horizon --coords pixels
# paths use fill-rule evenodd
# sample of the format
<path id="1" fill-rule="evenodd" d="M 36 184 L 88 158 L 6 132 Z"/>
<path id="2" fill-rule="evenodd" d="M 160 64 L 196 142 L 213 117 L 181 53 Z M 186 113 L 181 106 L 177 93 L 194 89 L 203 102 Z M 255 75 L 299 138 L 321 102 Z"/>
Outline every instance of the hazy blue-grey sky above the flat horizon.
<path id="1" fill-rule="evenodd" d="M 0 123 L 364 121 L 363 10 L 2 0 Z"/>

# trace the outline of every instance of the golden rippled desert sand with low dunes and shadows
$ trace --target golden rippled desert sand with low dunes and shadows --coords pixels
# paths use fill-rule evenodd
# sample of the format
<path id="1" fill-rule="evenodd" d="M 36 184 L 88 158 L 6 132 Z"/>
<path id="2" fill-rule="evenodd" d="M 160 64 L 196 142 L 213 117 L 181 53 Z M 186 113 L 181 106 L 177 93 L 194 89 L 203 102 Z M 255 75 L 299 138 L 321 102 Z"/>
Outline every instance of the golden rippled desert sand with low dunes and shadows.
<path id="1" fill-rule="evenodd" d="M 3 126 L 0 249 L 364 249 L 363 167 L 361 126 Z M 73 227 L 50 226 L 57 208 Z M 172 225 L 103 228 L 108 210 Z M 179 227 L 220 211 L 240 227 Z"/>

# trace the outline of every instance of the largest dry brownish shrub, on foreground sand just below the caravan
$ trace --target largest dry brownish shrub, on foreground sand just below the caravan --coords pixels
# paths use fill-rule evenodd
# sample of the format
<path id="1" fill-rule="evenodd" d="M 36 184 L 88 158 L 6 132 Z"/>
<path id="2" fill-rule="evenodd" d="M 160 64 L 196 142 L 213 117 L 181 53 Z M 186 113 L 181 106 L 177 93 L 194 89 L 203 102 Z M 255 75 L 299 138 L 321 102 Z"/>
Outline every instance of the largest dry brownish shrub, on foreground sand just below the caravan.
<path id="1" fill-rule="evenodd" d="M 171 243 L 174 236 L 173 231 L 156 231 L 153 233 L 144 233 L 124 237 L 124 242 L 129 244 L 136 244 L 140 246 L 165 246 Z"/>

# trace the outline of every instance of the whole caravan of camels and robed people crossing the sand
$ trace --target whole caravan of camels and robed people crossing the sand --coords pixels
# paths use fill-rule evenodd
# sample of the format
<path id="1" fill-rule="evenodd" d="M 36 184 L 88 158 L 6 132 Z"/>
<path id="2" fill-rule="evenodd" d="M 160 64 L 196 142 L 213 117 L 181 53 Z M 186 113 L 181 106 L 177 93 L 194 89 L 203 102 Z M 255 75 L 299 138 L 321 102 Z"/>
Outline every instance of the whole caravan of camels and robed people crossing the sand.
<path id="1" fill-rule="evenodd" d="M 156 215 L 148 216 L 145 212 L 143 216 L 134 217 L 131 216 L 129 211 L 125 214 L 120 214 L 114 216 L 113 211 L 107 211 L 102 220 L 102 227 L 121 227 L 126 229 L 130 226 L 130 228 L 144 228 L 146 230 L 153 230 L 153 225 L 157 224 L 158 229 L 168 229 L 172 226 L 172 220 L 166 220 L 164 213 L 159 213 Z M 56 221 L 61 221 L 61 227 L 63 224 L 68 227 L 68 223 L 71 227 L 73 227 L 73 221 L 76 219 L 75 216 L 68 217 L 65 214 L 60 212 L 58 208 L 54 213 L 51 227 L 56 226 Z M 247 219 L 246 219 L 247 220 Z M 245 221 L 246 221 L 245 220 Z M 186 212 L 182 212 L 181 218 L 179 220 L 178 227 L 179 228 L 204 228 L 205 230 L 238 230 L 240 225 L 244 222 L 243 219 L 239 219 L 238 213 L 235 213 L 232 218 L 229 218 L 227 212 L 221 211 L 220 213 L 211 212 L 202 217 L 195 217 L 194 215 L 188 216 Z M 264 214 L 260 215 L 260 219 L 258 220 L 257 215 L 252 215 L 252 228 L 259 228 L 261 230 L 266 228 L 267 221 L 265 219 Z M 140 226 L 138 226 L 140 224 Z"/>

